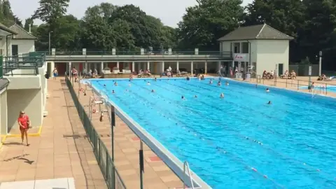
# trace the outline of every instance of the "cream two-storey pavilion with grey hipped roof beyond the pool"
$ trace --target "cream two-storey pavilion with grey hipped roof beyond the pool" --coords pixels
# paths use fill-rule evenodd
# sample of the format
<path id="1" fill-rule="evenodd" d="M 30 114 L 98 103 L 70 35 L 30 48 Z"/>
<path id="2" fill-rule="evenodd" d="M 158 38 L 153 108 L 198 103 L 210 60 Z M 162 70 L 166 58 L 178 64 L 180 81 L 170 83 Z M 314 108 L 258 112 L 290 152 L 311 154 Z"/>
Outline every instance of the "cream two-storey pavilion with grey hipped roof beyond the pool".
<path id="1" fill-rule="evenodd" d="M 264 24 L 239 27 L 218 41 L 222 52 L 232 52 L 233 62 L 226 62 L 227 68 L 238 67 L 244 73 L 251 71 L 257 75 L 262 75 L 264 70 L 276 71 L 279 76 L 288 70 L 291 39 Z"/>

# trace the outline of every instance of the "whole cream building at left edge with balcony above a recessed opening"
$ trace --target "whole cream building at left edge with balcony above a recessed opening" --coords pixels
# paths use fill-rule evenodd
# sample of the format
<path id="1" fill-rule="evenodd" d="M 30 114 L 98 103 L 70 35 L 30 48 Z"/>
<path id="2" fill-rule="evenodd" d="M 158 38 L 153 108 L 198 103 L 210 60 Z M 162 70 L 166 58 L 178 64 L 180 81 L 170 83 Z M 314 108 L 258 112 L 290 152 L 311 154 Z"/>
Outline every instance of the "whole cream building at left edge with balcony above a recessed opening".
<path id="1" fill-rule="evenodd" d="M 0 55 L 10 57 L 15 44 L 18 46 L 14 55 L 34 51 L 36 38 L 22 27 L 14 25 L 11 28 L 13 30 L 0 23 Z M 27 58 L 3 59 L 0 64 L 0 137 L 12 129 L 18 130 L 20 111 L 29 115 L 32 127 L 40 127 L 43 123 L 47 95 L 44 59 Z"/>

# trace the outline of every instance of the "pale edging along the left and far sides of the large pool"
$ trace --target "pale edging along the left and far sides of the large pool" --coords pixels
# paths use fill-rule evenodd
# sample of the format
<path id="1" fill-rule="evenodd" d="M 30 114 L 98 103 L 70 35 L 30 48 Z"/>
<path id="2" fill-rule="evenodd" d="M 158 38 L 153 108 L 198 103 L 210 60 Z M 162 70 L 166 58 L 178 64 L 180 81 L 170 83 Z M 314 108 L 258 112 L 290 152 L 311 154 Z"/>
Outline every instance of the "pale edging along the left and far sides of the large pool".
<path id="1" fill-rule="evenodd" d="M 144 79 L 144 78 L 139 78 Z M 167 79 L 167 78 L 165 78 Z M 186 79 L 186 78 L 181 78 Z M 91 80 L 91 79 L 90 79 Z M 92 79 L 92 80 L 117 80 L 117 79 Z M 128 79 L 118 79 L 118 80 L 128 80 Z M 87 83 L 87 85 L 90 85 L 92 87 L 92 90 L 94 90 L 94 93 L 100 94 L 99 90 L 92 85 L 92 83 L 88 82 L 89 80 L 83 80 L 84 83 Z M 117 106 L 115 103 L 113 103 L 111 100 L 109 100 L 108 97 L 102 96 L 106 102 L 108 102 L 111 106 L 114 106 L 116 115 L 119 116 L 121 120 L 123 120 L 130 129 L 137 134 L 137 136 L 144 141 L 147 146 L 149 146 L 154 153 L 158 155 L 159 158 L 162 159 L 163 162 L 165 162 L 170 169 L 176 174 L 176 176 L 179 176 L 179 178 L 184 182 L 187 183 L 188 186 L 191 186 L 190 178 L 187 173 L 183 172 L 183 162 L 179 160 L 179 158 L 176 158 L 174 154 L 169 152 L 165 146 L 163 146 L 155 137 L 153 137 L 151 134 L 149 134 L 146 130 L 144 130 L 141 125 L 139 125 L 136 121 L 134 121 L 130 116 L 127 115 L 122 109 L 120 109 L 119 106 Z M 212 189 L 211 186 L 209 186 L 205 181 L 203 181 L 200 176 L 197 176 L 195 172 L 193 172 L 192 169 L 190 169 L 190 174 L 193 179 L 194 188 L 202 188 L 202 189 Z"/>

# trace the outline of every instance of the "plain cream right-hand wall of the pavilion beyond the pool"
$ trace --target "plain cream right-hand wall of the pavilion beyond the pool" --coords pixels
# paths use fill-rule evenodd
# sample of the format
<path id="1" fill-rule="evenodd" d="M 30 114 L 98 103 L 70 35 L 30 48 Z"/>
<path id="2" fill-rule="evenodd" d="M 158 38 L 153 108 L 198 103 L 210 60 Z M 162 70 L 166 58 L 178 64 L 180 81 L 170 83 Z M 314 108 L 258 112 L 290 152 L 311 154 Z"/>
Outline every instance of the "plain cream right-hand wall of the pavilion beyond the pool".
<path id="1" fill-rule="evenodd" d="M 288 40 L 258 40 L 257 52 L 257 74 L 262 75 L 264 70 L 274 71 L 276 64 L 283 64 L 283 72 L 288 70 Z"/>

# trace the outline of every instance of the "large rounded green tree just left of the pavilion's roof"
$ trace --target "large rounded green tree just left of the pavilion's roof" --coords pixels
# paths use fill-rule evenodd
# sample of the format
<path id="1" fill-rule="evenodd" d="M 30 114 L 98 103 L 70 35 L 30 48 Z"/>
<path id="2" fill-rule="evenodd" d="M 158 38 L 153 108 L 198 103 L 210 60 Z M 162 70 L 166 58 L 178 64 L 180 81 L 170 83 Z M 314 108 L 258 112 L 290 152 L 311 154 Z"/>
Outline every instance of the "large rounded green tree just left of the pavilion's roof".
<path id="1" fill-rule="evenodd" d="M 217 39 L 239 27 L 244 9 L 241 0 L 197 0 L 179 22 L 179 47 L 218 50 Z"/>

